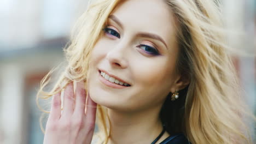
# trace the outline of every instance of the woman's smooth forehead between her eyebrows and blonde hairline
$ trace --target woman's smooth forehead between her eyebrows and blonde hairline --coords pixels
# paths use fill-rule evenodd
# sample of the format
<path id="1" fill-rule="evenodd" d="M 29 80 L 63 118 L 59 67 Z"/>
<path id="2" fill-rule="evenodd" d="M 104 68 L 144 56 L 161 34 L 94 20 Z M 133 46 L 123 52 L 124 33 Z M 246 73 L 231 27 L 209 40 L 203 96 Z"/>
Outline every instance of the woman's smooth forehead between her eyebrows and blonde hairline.
<path id="1" fill-rule="evenodd" d="M 168 43 L 174 35 L 174 19 L 164 0 L 126 0 L 112 11 L 124 31 L 155 33 Z M 168 45 L 168 44 L 167 44 Z"/>

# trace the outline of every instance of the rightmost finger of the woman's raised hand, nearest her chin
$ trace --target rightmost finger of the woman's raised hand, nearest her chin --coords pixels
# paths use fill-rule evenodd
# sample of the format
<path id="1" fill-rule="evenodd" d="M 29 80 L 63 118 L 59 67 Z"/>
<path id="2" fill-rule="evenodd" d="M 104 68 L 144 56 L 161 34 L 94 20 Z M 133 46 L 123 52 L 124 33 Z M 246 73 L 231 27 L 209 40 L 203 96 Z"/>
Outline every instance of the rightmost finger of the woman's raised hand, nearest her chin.
<path id="1" fill-rule="evenodd" d="M 92 101 L 89 93 L 86 100 L 87 101 L 86 101 L 86 110 L 85 110 L 85 114 L 86 114 L 85 121 L 88 121 L 89 123 L 95 122 L 97 104 L 94 101 Z"/>

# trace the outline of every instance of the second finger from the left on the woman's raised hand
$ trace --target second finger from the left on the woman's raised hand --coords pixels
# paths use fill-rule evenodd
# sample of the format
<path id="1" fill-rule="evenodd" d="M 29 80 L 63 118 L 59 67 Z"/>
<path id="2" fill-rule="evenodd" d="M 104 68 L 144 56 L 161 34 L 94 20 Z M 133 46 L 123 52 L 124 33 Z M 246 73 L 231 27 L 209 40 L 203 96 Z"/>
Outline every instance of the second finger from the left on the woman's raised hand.
<path id="1" fill-rule="evenodd" d="M 74 87 L 69 83 L 64 91 L 63 96 L 63 115 L 71 116 L 74 111 Z"/>

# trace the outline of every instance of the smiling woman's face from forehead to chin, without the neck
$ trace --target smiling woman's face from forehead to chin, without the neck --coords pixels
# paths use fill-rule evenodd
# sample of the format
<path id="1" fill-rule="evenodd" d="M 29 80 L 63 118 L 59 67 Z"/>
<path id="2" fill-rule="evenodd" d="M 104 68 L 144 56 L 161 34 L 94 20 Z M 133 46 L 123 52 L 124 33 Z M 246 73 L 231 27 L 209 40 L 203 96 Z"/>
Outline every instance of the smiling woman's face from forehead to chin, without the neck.
<path id="1" fill-rule="evenodd" d="M 174 33 L 171 9 L 164 1 L 120 3 L 92 51 L 88 79 L 92 100 L 121 111 L 162 105 L 178 88 Z"/>

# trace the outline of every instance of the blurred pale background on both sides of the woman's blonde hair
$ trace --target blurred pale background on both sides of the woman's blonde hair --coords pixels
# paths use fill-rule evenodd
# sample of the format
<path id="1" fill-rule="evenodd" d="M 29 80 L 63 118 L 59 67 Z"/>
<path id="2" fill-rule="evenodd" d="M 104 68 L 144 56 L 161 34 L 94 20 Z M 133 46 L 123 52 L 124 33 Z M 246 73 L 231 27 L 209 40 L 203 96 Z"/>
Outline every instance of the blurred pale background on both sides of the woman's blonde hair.
<path id="1" fill-rule="evenodd" d="M 40 80 L 65 61 L 63 47 L 75 20 L 88 1 L 0 1 L 0 143 L 43 143 L 36 105 Z M 255 114 L 256 95 L 256 2 L 222 0 L 232 47 L 252 56 L 234 56 L 245 99 Z M 252 124 L 252 130 L 254 125 Z"/>

